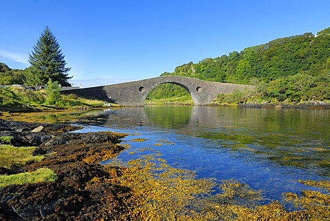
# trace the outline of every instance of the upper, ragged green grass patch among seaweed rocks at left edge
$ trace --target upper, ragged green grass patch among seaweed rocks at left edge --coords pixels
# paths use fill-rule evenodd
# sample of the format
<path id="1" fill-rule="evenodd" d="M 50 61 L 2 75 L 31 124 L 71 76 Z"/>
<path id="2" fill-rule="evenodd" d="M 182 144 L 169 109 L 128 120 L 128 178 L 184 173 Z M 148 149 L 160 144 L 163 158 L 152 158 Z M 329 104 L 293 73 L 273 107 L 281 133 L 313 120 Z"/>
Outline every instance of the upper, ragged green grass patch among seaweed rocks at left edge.
<path id="1" fill-rule="evenodd" d="M 33 156 L 35 147 L 14 147 L 0 145 L 0 166 L 8 169 L 25 165 L 28 162 L 39 162 L 44 156 Z"/>

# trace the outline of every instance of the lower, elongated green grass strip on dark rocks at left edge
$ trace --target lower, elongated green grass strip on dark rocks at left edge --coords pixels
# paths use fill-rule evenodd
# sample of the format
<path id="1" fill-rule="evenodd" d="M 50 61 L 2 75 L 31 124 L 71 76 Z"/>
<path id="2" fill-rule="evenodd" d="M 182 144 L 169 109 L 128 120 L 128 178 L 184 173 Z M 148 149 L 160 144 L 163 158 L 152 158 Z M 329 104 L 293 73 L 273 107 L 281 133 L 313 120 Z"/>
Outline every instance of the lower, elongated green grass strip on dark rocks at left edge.
<path id="1" fill-rule="evenodd" d="M 40 168 L 35 172 L 25 172 L 13 175 L 0 175 L 0 188 L 8 185 L 22 185 L 27 183 L 42 183 L 56 181 L 56 174 L 48 168 Z"/>

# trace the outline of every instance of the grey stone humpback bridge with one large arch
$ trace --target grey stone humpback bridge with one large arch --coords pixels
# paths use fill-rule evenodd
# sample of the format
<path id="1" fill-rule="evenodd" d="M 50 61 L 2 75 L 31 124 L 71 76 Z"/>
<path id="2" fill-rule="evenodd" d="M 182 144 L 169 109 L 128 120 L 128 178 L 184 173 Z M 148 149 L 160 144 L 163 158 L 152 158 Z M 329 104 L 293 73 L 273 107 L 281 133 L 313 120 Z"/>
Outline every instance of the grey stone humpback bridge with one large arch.
<path id="1" fill-rule="evenodd" d="M 252 89 L 250 85 L 209 82 L 183 76 L 161 76 L 122 84 L 96 86 L 86 89 L 63 91 L 76 95 L 104 100 L 122 106 L 143 106 L 148 93 L 159 84 L 172 83 L 182 86 L 192 97 L 195 105 L 211 104 L 220 93 Z"/>

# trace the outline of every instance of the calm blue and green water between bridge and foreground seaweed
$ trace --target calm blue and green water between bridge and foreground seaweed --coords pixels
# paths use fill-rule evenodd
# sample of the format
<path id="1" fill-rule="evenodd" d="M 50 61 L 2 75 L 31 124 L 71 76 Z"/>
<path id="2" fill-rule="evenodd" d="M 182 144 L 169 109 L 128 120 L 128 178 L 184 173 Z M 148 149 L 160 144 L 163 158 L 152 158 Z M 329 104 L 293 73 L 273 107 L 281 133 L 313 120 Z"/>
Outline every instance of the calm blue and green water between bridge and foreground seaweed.
<path id="1" fill-rule="evenodd" d="M 248 183 L 266 201 L 309 189 L 299 179 L 330 179 L 330 110 L 146 106 L 88 113 L 80 124 L 82 132 L 128 132 L 133 150 L 158 150 L 198 178 Z M 120 159 L 136 157 L 132 149 Z"/>

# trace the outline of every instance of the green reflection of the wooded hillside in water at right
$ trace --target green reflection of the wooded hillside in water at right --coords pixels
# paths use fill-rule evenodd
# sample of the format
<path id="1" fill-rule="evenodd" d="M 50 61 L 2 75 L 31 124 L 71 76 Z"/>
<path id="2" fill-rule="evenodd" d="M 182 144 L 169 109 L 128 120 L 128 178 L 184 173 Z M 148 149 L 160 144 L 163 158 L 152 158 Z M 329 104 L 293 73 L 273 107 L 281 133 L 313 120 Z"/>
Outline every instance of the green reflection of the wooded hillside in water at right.
<path id="1" fill-rule="evenodd" d="M 235 115 L 224 109 L 221 113 L 226 124 L 217 130 L 202 130 L 199 137 L 221 142 L 221 148 L 329 176 L 330 137 L 322 132 L 327 131 L 327 123 L 320 124 L 329 110 L 238 108 Z"/>

